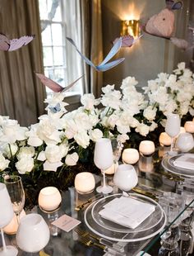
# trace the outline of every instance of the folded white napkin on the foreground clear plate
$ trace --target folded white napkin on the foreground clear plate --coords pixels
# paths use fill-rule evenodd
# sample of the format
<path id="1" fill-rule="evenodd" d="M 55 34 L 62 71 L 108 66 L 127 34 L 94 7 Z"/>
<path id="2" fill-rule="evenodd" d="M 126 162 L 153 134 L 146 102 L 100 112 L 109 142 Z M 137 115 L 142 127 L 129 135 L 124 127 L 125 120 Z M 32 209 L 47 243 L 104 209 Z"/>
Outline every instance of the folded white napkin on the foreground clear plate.
<path id="1" fill-rule="evenodd" d="M 120 197 L 109 201 L 99 215 L 106 220 L 135 229 L 150 214 L 155 211 L 155 206 L 138 201 L 131 197 Z"/>

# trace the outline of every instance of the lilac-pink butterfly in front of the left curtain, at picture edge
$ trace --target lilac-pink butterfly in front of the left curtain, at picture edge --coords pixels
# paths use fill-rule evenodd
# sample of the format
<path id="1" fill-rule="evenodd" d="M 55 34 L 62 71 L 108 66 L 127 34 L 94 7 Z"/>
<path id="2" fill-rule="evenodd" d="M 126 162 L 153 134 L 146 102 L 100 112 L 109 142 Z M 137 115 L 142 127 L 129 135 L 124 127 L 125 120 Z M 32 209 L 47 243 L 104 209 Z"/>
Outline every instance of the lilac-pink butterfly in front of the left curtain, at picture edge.
<path id="1" fill-rule="evenodd" d="M 33 36 L 21 36 L 19 39 L 9 40 L 6 35 L 0 33 L 0 50 L 13 51 L 18 50 L 22 46 L 30 43 L 31 40 L 35 38 Z"/>

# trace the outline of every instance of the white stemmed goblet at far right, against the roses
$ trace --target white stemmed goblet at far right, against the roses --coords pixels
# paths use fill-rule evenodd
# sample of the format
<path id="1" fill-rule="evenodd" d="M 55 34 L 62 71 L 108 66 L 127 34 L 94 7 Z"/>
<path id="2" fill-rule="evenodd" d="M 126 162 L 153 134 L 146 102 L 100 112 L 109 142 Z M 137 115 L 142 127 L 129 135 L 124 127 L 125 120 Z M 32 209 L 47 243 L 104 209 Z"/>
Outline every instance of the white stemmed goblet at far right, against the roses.
<path id="1" fill-rule="evenodd" d="M 179 134 L 181 122 L 178 114 L 169 114 L 167 116 L 165 132 L 171 137 L 170 152 L 173 152 L 173 140 Z"/>

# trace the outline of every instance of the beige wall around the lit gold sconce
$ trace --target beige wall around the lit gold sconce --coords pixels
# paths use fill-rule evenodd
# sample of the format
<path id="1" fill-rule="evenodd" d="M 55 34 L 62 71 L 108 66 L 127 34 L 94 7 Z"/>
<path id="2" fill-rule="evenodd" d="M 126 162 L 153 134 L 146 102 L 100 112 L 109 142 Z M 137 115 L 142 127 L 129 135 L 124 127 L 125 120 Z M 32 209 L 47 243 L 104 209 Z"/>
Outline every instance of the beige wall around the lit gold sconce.
<path id="1" fill-rule="evenodd" d="M 184 8 L 178 11 L 178 36 L 185 36 L 187 26 L 187 7 L 190 0 L 184 1 Z M 160 12 L 165 7 L 164 0 L 102 0 L 104 55 L 107 55 L 113 41 L 120 34 L 120 23 L 133 18 L 140 19 L 141 23 Z M 120 84 L 123 78 L 135 76 L 140 87 L 146 85 L 146 81 L 156 78 L 157 73 L 172 72 L 180 61 L 191 59 L 190 53 L 182 53 L 169 40 L 150 36 L 143 33 L 141 40 L 132 48 L 122 48 L 117 57 L 125 57 L 125 61 L 116 68 L 104 73 L 104 85 Z"/>

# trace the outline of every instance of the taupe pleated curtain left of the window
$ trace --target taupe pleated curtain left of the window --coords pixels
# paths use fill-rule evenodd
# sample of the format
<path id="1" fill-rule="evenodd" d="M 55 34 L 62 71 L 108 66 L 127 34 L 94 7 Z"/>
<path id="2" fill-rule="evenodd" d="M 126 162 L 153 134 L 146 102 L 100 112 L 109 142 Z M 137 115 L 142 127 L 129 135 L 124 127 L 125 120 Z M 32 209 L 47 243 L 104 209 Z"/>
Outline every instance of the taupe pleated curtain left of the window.
<path id="1" fill-rule="evenodd" d="M 1 0 L 0 31 L 9 39 L 35 34 L 19 50 L 0 51 L 0 115 L 29 126 L 44 113 L 46 96 L 34 73 L 44 72 L 38 0 Z"/>

